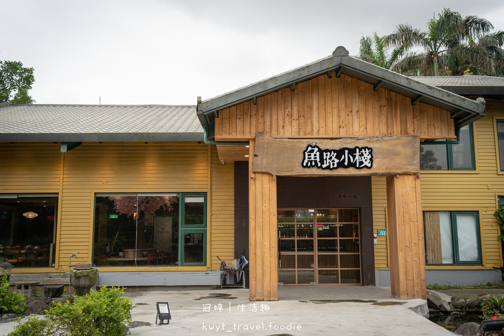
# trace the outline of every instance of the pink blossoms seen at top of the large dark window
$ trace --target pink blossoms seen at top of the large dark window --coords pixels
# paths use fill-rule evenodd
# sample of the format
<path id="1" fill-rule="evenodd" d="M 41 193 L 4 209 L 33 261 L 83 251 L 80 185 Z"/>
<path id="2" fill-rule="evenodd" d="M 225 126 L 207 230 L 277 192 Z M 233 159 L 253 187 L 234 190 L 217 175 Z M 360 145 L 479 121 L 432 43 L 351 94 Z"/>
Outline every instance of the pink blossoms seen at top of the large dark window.
<path id="1" fill-rule="evenodd" d="M 135 213 L 143 213 L 144 221 L 154 217 L 156 211 L 163 208 L 173 210 L 173 205 L 178 202 L 178 197 L 173 196 L 138 196 L 138 211 L 136 196 L 109 196 L 114 202 L 114 209 L 118 214 L 125 214 L 128 218 Z"/>

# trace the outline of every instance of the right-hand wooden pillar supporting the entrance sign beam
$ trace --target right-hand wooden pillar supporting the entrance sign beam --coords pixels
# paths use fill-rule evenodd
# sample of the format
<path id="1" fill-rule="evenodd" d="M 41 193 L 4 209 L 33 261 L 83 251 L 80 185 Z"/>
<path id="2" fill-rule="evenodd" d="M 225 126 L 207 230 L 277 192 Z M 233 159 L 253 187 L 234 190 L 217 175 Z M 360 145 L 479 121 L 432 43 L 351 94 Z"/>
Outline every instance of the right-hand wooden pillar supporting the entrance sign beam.
<path id="1" fill-rule="evenodd" d="M 390 281 L 398 299 L 427 299 L 419 175 L 387 177 Z"/>

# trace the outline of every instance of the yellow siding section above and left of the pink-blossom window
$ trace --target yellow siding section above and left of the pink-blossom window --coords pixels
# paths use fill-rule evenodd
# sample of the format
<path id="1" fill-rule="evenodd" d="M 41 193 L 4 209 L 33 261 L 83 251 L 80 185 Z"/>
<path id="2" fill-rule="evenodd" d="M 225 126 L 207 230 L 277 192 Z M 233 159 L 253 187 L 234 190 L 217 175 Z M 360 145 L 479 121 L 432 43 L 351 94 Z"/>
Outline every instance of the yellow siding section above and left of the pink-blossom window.
<path id="1" fill-rule="evenodd" d="M 94 202 L 91 191 L 207 190 L 206 145 L 190 142 L 84 143 L 65 154 L 59 260 L 68 259 L 72 248 L 73 252 L 79 250 L 80 255 L 91 257 L 94 220 L 90 213 Z"/>

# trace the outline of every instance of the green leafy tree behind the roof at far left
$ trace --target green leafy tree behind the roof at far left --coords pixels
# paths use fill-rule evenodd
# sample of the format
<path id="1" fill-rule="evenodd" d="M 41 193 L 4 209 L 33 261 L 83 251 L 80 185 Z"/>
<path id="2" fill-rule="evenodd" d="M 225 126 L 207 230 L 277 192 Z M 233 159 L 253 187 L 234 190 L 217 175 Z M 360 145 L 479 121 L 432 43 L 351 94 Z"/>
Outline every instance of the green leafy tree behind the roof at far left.
<path id="1" fill-rule="evenodd" d="M 28 94 L 35 77 L 33 68 L 24 68 L 19 61 L 0 60 L 0 101 L 9 104 L 33 104 Z"/>

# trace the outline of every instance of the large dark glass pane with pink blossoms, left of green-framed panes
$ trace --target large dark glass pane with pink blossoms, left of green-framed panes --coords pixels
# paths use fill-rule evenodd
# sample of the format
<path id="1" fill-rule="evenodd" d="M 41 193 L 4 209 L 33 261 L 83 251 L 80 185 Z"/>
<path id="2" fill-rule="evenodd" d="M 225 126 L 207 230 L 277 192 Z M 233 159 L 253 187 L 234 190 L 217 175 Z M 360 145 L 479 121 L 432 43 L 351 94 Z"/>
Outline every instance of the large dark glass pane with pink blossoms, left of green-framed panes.
<path id="1" fill-rule="evenodd" d="M 93 263 L 178 264 L 178 196 L 96 196 Z"/>

